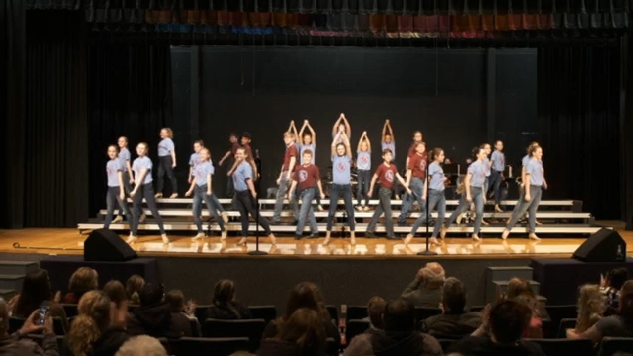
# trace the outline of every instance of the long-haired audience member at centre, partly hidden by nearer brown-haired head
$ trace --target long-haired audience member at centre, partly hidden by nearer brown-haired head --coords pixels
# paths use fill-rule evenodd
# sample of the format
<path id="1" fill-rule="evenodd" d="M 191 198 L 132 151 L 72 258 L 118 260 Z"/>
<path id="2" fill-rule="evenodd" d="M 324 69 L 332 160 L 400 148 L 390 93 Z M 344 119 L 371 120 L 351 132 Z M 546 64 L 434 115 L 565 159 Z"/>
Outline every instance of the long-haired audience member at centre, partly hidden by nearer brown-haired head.
<path id="1" fill-rule="evenodd" d="M 299 283 L 292 289 L 288 297 L 288 302 L 286 303 L 285 314 L 277 318 L 277 320 L 268 322 L 261 336 L 261 340 L 277 336 L 280 326 L 290 319 L 292 313 L 299 308 L 308 308 L 320 315 L 323 329 L 325 330 L 325 337 L 333 338 L 337 346 L 341 345 L 341 333 L 339 332 L 339 328 L 332 322 L 332 317 L 330 317 L 329 312 L 327 312 L 327 308 L 325 308 L 321 289 L 319 289 L 316 284 L 310 282 Z"/>

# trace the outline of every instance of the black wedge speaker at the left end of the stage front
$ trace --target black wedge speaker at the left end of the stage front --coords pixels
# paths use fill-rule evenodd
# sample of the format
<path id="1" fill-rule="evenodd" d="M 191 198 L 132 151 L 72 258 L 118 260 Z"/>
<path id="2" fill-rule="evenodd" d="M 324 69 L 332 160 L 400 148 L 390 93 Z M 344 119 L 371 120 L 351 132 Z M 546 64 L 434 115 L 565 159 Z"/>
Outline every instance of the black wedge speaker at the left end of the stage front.
<path id="1" fill-rule="evenodd" d="M 136 257 L 136 251 L 111 230 L 94 230 L 84 241 L 84 261 L 127 261 Z"/>

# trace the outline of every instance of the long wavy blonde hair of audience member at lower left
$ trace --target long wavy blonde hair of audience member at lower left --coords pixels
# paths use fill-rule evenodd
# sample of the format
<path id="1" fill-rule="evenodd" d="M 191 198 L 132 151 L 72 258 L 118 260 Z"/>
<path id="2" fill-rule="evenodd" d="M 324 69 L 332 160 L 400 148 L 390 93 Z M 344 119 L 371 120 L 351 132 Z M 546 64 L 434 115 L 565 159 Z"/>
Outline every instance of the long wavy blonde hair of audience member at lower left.
<path id="1" fill-rule="evenodd" d="M 86 356 L 110 325 L 110 298 L 103 291 L 89 291 L 79 300 L 77 312 L 68 332 L 68 348 L 75 356 Z"/>

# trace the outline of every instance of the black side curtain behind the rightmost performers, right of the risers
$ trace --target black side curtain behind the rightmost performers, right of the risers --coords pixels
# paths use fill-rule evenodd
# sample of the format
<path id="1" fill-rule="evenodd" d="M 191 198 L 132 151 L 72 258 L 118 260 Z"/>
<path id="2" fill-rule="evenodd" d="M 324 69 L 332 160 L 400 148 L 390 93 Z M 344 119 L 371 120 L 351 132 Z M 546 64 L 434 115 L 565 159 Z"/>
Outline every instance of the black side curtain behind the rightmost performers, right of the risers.
<path id="1" fill-rule="evenodd" d="M 580 199 L 598 219 L 619 219 L 618 46 L 539 48 L 537 66 L 544 197 Z"/>

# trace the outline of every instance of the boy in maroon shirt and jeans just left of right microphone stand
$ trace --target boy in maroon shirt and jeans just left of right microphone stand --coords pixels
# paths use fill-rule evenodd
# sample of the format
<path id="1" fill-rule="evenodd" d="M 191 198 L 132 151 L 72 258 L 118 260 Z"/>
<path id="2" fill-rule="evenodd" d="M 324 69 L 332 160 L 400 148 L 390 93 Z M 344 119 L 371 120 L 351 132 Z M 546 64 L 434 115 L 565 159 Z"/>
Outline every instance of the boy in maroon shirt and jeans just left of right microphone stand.
<path id="1" fill-rule="evenodd" d="M 420 132 L 417 131 L 417 134 L 420 134 Z M 422 134 L 420 134 L 420 137 L 422 137 Z M 427 160 L 426 145 L 420 141 L 415 146 L 415 154 L 407 158 L 406 185 L 412 193 L 407 193 L 402 201 L 402 210 L 398 216 L 399 226 L 406 226 L 406 215 L 411 210 L 413 200 L 418 201 L 422 214 L 425 212 L 426 207 L 422 202 L 422 189 L 424 188 L 423 179 L 427 174 Z"/>

